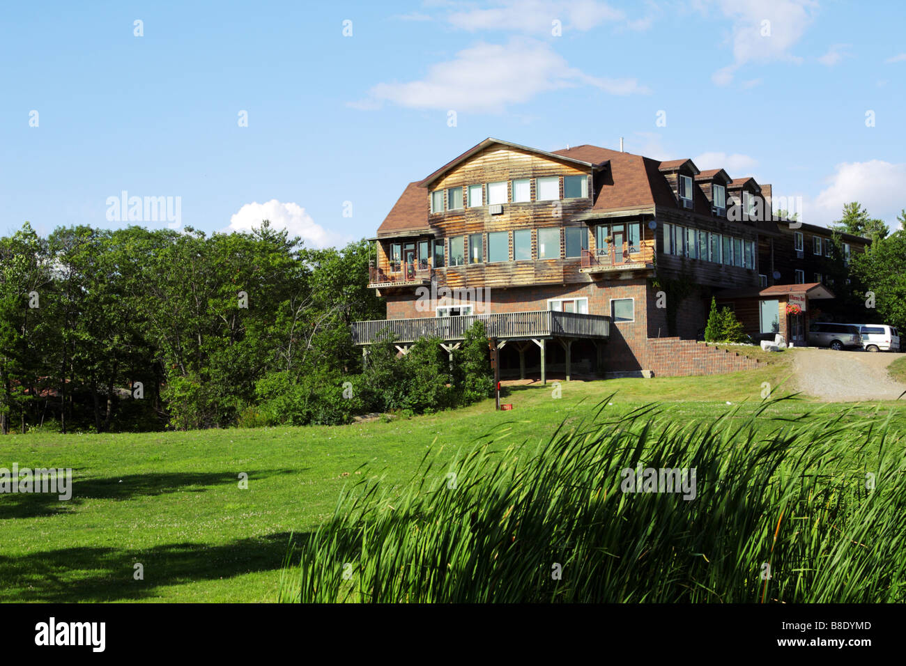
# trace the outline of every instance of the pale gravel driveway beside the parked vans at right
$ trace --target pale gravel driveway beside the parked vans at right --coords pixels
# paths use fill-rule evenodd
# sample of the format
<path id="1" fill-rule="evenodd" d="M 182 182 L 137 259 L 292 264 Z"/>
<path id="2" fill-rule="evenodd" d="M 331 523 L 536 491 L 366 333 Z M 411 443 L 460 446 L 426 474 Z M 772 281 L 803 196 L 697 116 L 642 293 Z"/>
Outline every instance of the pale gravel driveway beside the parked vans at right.
<path id="1" fill-rule="evenodd" d="M 800 349 L 795 352 L 795 389 L 824 401 L 897 400 L 906 384 L 893 381 L 887 366 L 898 358 L 899 353 L 890 352 Z"/>

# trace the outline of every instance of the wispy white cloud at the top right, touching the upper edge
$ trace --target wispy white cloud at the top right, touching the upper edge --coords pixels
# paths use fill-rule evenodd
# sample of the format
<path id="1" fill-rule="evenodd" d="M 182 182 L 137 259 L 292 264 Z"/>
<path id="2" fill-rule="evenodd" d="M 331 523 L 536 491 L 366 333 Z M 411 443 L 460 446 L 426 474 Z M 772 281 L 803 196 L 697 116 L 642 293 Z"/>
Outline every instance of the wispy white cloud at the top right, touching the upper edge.
<path id="1" fill-rule="evenodd" d="M 790 49 L 814 20 L 814 0 L 712 0 L 699 9 L 710 14 L 714 5 L 732 22 L 729 42 L 733 63 L 720 68 L 711 80 L 720 86 L 733 82 L 748 63 L 801 62 Z"/>

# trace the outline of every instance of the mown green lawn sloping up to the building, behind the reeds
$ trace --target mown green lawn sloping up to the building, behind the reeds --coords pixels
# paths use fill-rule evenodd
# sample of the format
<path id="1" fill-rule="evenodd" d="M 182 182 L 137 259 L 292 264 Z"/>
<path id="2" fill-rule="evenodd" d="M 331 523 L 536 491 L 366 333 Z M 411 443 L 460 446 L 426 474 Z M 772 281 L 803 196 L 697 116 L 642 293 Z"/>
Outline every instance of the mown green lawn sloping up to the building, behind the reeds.
<path id="1" fill-rule="evenodd" d="M 5 437 L 0 467 L 72 468 L 74 483 L 68 502 L 0 495 L 0 601 L 273 601 L 290 533 L 331 516 L 361 474 L 401 484 L 426 453 L 452 456 L 495 429 L 502 444 L 535 445 L 613 391 L 608 409 L 617 412 L 657 400 L 676 420 L 741 416 L 757 407 L 762 382 L 782 393 L 785 374 L 776 362 L 715 377 L 573 381 L 559 400 L 550 384 L 519 387 L 503 399 L 512 411 L 485 401 L 338 427 Z M 816 409 L 840 406 L 787 401 L 766 416 Z M 904 414 L 897 403 L 882 409 Z M 241 472 L 248 489 L 239 487 Z M 136 563 L 143 581 L 133 580 Z"/>

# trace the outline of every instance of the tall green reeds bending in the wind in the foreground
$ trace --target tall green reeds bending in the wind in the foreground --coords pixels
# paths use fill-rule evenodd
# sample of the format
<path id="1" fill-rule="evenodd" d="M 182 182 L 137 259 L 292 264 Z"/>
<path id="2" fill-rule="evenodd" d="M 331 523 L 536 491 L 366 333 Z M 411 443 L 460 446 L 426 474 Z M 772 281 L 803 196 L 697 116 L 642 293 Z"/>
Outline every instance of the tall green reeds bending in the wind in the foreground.
<path id="1" fill-rule="evenodd" d="M 447 465 L 428 458 L 401 492 L 363 481 L 302 539 L 282 598 L 906 601 L 900 430 L 834 413 L 771 422 L 770 406 L 678 424 L 604 403 L 535 451 L 495 449 L 501 428 Z M 692 471 L 640 494 L 636 468 Z"/>

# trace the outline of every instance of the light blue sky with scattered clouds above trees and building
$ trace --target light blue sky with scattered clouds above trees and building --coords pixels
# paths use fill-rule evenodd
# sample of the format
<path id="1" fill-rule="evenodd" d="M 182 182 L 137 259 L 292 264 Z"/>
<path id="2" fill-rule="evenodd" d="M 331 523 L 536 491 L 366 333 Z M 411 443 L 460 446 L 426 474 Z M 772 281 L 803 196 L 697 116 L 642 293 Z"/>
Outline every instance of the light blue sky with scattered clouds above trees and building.
<path id="1" fill-rule="evenodd" d="M 121 226 L 127 191 L 179 198 L 174 227 L 266 216 L 333 245 L 488 136 L 622 136 L 770 182 L 817 224 L 853 199 L 889 223 L 906 208 L 899 2 L 74 5 L 5 6 L 3 234 Z"/>

